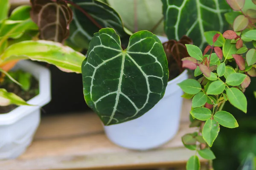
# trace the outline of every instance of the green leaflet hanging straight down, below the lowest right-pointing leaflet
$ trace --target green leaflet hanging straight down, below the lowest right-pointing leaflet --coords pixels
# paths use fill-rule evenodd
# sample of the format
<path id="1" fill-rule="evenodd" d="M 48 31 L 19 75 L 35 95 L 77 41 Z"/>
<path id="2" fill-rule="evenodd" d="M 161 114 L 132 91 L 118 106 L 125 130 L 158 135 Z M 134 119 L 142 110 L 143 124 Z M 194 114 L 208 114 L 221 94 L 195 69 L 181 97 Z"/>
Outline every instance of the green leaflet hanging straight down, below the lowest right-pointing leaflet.
<path id="1" fill-rule="evenodd" d="M 208 119 L 203 127 L 202 135 L 209 145 L 209 147 L 212 147 L 213 142 L 218 136 L 218 133 L 220 131 L 220 126 L 218 122 L 216 122 L 214 119 Z"/>

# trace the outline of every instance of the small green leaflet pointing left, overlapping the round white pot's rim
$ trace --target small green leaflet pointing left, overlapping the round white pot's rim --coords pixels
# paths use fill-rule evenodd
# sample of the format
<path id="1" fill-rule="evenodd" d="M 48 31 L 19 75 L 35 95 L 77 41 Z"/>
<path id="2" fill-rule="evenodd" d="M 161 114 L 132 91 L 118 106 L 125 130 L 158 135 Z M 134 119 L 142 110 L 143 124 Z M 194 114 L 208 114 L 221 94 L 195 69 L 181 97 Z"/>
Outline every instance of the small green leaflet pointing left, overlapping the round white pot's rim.
<path id="1" fill-rule="evenodd" d="M 201 85 L 195 79 L 186 79 L 177 85 L 187 94 L 197 94 L 201 91 Z"/>

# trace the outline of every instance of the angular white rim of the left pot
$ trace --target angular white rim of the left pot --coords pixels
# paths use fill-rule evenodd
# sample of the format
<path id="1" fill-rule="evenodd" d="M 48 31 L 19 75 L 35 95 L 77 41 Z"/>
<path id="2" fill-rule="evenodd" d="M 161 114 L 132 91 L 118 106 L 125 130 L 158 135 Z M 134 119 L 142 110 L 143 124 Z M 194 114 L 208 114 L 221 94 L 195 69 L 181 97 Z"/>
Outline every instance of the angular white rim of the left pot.
<path id="1" fill-rule="evenodd" d="M 32 111 L 40 109 L 51 100 L 50 71 L 48 68 L 25 60 L 18 62 L 15 68 L 21 68 L 23 71 L 31 73 L 38 79 L 39 94 L 27 101 L 30 105 L 35 106 L 18 106 L 9 113 L 0 114 L 0 125 L 13 124 Z"/>

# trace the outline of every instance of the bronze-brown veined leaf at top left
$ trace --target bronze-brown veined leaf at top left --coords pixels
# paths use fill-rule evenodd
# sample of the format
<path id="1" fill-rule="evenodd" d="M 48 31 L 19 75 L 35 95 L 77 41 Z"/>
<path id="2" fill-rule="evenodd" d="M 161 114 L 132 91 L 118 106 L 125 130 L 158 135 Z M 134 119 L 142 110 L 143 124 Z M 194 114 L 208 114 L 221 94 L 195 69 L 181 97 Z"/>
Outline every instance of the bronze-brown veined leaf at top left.
<path id="1" fill-rule="evenodd" d="M 64 0 L 30 0 L 32 10 L 30 16 L 38 25 L 40 38 L 63 42 L 69 35 L 69 23 L 72 20 L 72 10 Z"/>

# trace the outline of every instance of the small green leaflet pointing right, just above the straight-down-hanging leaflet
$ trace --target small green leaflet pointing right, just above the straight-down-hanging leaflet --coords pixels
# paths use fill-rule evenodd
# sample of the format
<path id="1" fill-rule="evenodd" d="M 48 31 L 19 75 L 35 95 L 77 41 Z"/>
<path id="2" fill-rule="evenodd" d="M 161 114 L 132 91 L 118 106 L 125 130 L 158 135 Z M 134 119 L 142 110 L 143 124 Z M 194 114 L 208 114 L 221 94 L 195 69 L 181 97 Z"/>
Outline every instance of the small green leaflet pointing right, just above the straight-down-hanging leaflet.
<path id="1" fill-rule="evenodd" d="M 214 114 L 213 118 L 222 126 L 228 128 L 238 127 L 238 123 L 234 116 L 226 111 L 218 111 Z"/>

